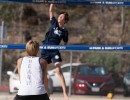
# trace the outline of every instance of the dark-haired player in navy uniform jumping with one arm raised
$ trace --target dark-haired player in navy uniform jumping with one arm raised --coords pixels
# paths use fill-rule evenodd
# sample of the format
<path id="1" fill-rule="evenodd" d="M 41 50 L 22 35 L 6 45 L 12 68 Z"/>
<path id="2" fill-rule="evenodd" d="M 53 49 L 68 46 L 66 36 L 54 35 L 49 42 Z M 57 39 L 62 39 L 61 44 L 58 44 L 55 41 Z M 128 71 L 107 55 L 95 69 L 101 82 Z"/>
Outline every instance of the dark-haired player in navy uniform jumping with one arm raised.
<path id="1" fill-rule="evenodd" d="M 64 28 L 64 25 L 69 20 L 68 13 L 66 12 L 60 13 L 58 16 L 58 20 L 56 20 L 56 18 L 54 17 L 53 6 L 54 4 L 50 4 L 49 15 L 50 15 L 51 26 L 45 35 L 45 39 L 43 40 L 43 45 L 59 45 L 62 40 L 64 41 L 64 44 L 67 44 L 68 31 Z M 51 62 L 55 64 L 56 73 L 58 74 L 59 79 L 61 81 L 64 100 L 68 100 L 65 80 L 60 68 L 61 66 L 60 62 L 62 61 L 62 59 L 59 50 L 42 50 L 41 56 L 43 59 L 47 61 L 48 64 L 50 64 Z"/>

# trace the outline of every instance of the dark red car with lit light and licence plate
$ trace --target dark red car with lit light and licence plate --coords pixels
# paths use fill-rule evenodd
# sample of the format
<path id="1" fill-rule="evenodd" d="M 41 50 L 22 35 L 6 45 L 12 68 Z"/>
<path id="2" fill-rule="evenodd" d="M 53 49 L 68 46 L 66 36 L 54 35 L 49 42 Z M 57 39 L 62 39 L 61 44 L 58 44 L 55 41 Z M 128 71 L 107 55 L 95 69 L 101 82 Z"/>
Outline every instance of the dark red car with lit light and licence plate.
<path id="1" fill-rule="evenodd" d="M 73 77 L 72 90 L 74 94 L 114 92 L 114 79 L 105 67 L 79 65 Z"/>

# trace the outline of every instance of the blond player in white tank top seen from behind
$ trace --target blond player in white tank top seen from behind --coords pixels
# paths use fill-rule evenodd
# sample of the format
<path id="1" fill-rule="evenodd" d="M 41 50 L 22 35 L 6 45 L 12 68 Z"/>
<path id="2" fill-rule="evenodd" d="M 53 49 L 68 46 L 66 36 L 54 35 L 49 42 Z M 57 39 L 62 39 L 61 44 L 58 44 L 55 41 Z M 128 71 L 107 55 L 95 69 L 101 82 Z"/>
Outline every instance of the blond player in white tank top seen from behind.
<path id="1" fill-rule="evenodd" d="M 17 60 L 20 88 L 14 100 L 50 100 L 48 93 L 47 63 L 37 57 L 39 43 L 26 44 L 28 56 Z"/>

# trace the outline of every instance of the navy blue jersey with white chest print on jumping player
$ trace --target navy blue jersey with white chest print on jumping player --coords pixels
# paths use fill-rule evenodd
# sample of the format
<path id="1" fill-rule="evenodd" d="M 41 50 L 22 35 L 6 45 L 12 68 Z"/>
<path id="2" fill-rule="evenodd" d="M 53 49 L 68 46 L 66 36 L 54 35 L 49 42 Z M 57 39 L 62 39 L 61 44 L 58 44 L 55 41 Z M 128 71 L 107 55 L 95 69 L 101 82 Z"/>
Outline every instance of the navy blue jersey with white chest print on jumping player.
<path id="1" fill-rule="evenodd" d="M 59 45 L 61 40 L 65 43 L 68 42 L 68 31 L 65 28 L 60 28 L 58 21 L 53 17 L 51 20 L 51 27 L 45 35 L 43 44 Z"/>

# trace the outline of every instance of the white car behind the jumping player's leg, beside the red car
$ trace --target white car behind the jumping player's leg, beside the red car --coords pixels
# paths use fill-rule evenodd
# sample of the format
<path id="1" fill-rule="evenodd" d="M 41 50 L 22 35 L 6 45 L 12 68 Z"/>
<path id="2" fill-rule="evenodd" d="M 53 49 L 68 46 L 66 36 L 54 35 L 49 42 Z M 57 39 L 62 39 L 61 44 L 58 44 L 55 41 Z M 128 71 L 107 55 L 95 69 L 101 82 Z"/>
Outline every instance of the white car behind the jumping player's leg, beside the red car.
<path id="1" fill-rule="evenodd" d="M 69 87 L 70 84 L 70 66 L 72 65 L 72 72 L 74 71 L 75 67 L 80 65 L 81 63 L 67 63 L 61 66 L 61 70 L 63 73 L 63 76 L 65 78 L 66 86 Z M 53 88 L 61 88 L 61 82 L 58 78 L 58 75 L 56 73 L 55 69 L 48 71 L 49 76 L 52 79 Z M 71 79 L 73 80 L 73 79 Z"/>

